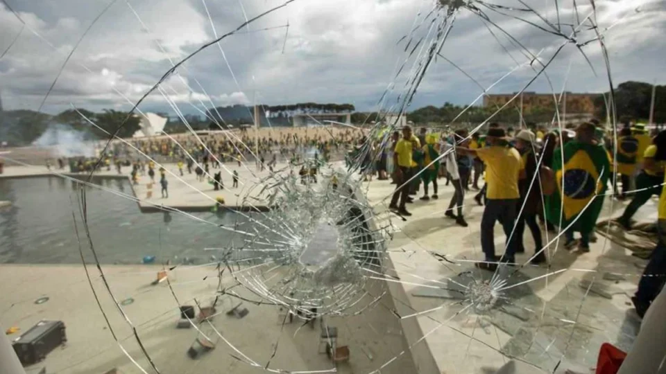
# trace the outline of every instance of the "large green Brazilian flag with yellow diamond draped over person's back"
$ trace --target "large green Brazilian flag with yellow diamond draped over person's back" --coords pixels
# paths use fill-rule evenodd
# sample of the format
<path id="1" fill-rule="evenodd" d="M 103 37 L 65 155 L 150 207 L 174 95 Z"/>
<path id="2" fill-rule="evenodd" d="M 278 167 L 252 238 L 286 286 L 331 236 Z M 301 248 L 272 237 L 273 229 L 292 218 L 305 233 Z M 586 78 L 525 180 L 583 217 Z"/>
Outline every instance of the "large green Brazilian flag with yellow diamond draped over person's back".
<path id="1" fill-rule="evenodd" d="M 611 172 L 608 153 L 602 145 L 570 141 L 564 149 L 555 150 L 553 171 L 557 191 L 546 199 L 548 221 L 564 229 L 576 220 L 574 231 L 592 232 L 604 204 L 603 194 Z"/>

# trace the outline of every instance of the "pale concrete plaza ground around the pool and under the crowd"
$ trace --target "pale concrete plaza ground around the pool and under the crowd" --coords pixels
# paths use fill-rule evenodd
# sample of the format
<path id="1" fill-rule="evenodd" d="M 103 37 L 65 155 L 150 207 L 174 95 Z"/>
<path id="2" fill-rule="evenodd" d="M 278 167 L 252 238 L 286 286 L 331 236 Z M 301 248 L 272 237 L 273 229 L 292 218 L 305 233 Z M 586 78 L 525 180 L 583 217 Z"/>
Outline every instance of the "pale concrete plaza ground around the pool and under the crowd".
<path id="1" fill-rule="evenodd" d="M 176 166 L 165 167 L 178 175 Z M 140 206 L 164 204 L 206 208 L 212 206 L 212 199 L 219 195 L 225 197 L 228 205 L 231 202 L 243 205 L 244 201 L 248 201 L 246 196 L 261 190 L 251 181 L 261 179 L 268 171 L 257 173 L 254 166 L 250 170 L 241 169 L 238 168 L 241 181 L 248 182 L 239 186 L 238 190 L 226 188 L 230 186 L 230 176 L 224 171 L 225 190 L 218 192 L 212 190 L 207 181 L 196 181 L 194 175 L 188 175 L 186 170 L 182 178 L 184 181 L 167 176 L 168 199 L 159 196 L 157 184 L 153 186 L 153 196 L 146 198 L 147 176 L 143 176 L 139 186 L 135 186 L 135 194 L 141 200 Z M 2 177 L 44 175 L 45 172 L 46 168 L 39 166 L 12 166 L 6 168 Z M 128 168 L 125 172 L 129 172 Z M 259 178 L 255 179 L 257 174 Z M 99 175 L 111 176 L 117 175 L 117 172 L 102 171 Z M 452 292 L 451 289 L 456 285 L 463 285 L 464 288 L 471 283 L 488 281 L 492 276 L 473 266 L 474 261 L 483 258 L 479 240 L 483 207 L 477 206 L 472 199 L 473 191 L 468 193 L 463 210 L 470 226 L 457 226 L 444 217 L 453 188 L 443 186 L 444 179 L 440 179 L 439 183 L 439 199 L 429 202 L 416 199 L 414 204 L 408 206 L 413 216 L 405 221 L 386 209 L 393 185 L 377 180 L 363 184 L 368 201 L 374 206 L 375 226 L 391 225 L 395 230 L 384 262 L 386 281 L 370 286 L 388 287 L 390 294 L 375 308 L 357 317 L 338 319 L 340 326 L 348 326 L 348 332 L 341 341 L 346 339 L 353 351 L 350 365 L 340 368 L 341 372 L 370 373 L 397 357 L 381 372 L 494 373 L 515 357 L 518 361 L 529 363 L 529 368 L 533 370 L 531 373 L 537 373 L 539 368 L 552 372 L 560 361 L 563 363 L 558 366 L 558 373 L 567 368 L 577 373 L 589 373 L 590 368 L 595 366 L 602 342 L 616 344 L 622 349 L 631 347 L 639 321 L 631 310 L 629 296 L 638 283 L 644 260 L 631 256 L 629 251 L 601 235 L 592 244 L 589 253 L 569 252 L 561 246 L 563 240 L 560 247 L 553 242 L 547 250 L 549 265 L 528 265 L 519 271 L 502 267 L 499 277 L 506 279 L 511 287 L 506 289 L 503 299 L 493 310 L 475 310 L 466 302 L 467 296 L 461 296 L 465 290 Z M 243 191 L 247 191 L 246 195 Z M 262 196 L 254 197 L 257 198 L 256 205 L 260 205 Z M 617 215 L 625 205 L 626 202 L 606 198 L 601 218 Z M 644 206 L 637 216 L 645 221 L 655 220 L 654 201 Z M 521 263 L 533 253 L 531 235 L 526 233 L 524 238 L 527 253 L 518 256 L 517 260 Z M 549 233 L 544 239 L 549 242 L 554 239 L 554 234 Z M 502 253 L 504 241 L 504 234 L 497 225 L 497 253 Z M 445 256 L 447 260 L 437 258 L 434 253 Z M 68 326 L 71 339 L 62 352 L 51 353 L 47 357 L 45 364 L 49 372 L 55 369 L 57 373 L 103 373 L 112 367 L 121 368 L 121 373 L 139 372 L 105 329 L 103 316 L 85 281 L 82 266 L 1 267 L 0 282 L 9 287 L 3 287 L 3 290 L 22 290 L 0 292 L 0 305 L 4 308 L 0 322 L 3 326 L 18 326 L 25 330 L 42 318 L 62 319 Z M 221 372 L 231 370 L 234 373 L 263 371 L 263 368 L 255 368 L 232 358 L 233 348 L 222 343 L 220 346 L 225 348 L 216 350 L 205 359 L 210 364 L 192 362 L 185 357 L 185 350 L 196 335 L 192 335 L 191 330 L 185 333 L 173 328 L 178 319 L 178 304 L 168 287 L 165 288 L 164 283 L 156 287 L 148 286 L 155 278 L 157 269 L 114 266 L 105 266 L 104 269 L 110 274 L 110 284 L 118 300 L 135 299 L 135 303 L 126 309 L 133 311 L 130 319 L 135 326 L 142 326 L 139 334 L 146 337 L 150 345 L 148 352 L 158 353 L 160 364 L 157 366 L 166 368 L 164 373 L 214 373 L 216 371 L 210 370 L 217 368 Z M 215 281 L 210 278 L 210 274 L 216 274 L 213 267 L 179 269 L 173 278 L 174 288 L 182 292 L 178 294 L 181 304 L 195 297 L 210 298 L 214 294 L 217 278 L 212 277 Z M 96 269 L 90 270 L 96 272 Z M 204 278 L 207 281 L 201 281 Z M 110 315 L 112 325 L 123 332 L 120 336 L 130 347 L 130 354 L 138 359 L 141 355 L 133 335 L 109 299 L 108 292 L 100 288 L 99 274 L 94 274 L 93 283 L 96 290 L 103 294 L 103 310 Z M 26 287 L 28 284 L 30 287 Z M 33 304 L 43 295 L 51 300 L 43 305 Z M 143 306 L 138 307 L 139 304 Z M 229 341 L 240 344 L 244 349 L 241 346 L 237 348 L 243 353 L 253 353 L 253 359 L 266 364 L 275 344 L 280 341 L 280 353 L 273 359 L 271 367 L 303 371 L 330 368 L 325 356 L 317 355 L 312 347 L 318 341 L 315 332 L 303 328 L 293 337 L 293 328 L 290 327 L 292 330 L 288 332 L 281 331 L 274 308 L 258 305 L 248 305 L 248 308 L 250 316 L 247 318 L 250 319 L 237 321 L 225 315 L 219 316 L 228 319 L 228 323 L 223 324 L 223 336 L 230 334 Z M 156 317 L 158 315 L 162 317 Z M 280 338 L 282 335 L 284 339 Z M 84 343 L 86 339 L 96 341 L 97 346 L 103 349 L 96 349 L 94 343 Z M 357 343 L 354 343 L 355 339 L 358 339 Z M 405 350 L 407 353 L 400 354 Z M 230 354 L 220 354 L 219 351 Z M 357 359 L 359 361 L 355 361 Z M 148 368 L 144 359 L 139 359 L 139 363 Z"/>

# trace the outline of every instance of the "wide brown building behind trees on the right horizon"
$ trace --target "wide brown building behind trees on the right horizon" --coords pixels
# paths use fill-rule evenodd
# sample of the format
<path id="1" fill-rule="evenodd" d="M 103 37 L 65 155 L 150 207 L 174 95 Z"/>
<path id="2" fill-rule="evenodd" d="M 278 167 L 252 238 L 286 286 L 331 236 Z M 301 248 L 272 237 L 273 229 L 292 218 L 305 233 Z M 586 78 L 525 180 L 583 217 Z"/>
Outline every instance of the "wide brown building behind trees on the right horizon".
<path id="1" fill-rule="evenodd" d="M 494 94 L 484 97 L 484 107 L 495 107 L 506 104 L 516 96 L 517 92 L 513 94 Z M 568 116 L 593 116 L 595 114 L 595 99 L 600 94 L 573 94 L 565 92 L 561 98 L 559 109 L 561 112 L 566 112 Z M 529 113 L 533 109 L 552 109 L 555 110 L 556 98 L 559 94 L 536 94 L 536 92 L 523 92 L 522 93 L 522 110 L 524 113 Z M 566 98 L 566 104 L 565 104 Z M 511 107 L 520 107 L 520 95 L 516 97 L 509 105 Z"/>

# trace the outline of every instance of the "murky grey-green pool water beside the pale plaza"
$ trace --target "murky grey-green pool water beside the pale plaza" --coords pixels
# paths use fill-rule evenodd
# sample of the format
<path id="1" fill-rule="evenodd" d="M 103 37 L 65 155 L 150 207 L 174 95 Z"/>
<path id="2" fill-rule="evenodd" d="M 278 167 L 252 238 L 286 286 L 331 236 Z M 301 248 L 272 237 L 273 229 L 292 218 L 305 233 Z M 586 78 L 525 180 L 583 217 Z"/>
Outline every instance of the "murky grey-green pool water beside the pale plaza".
<path id="1" fill-rule="evenodd" d="M 126 179 L 96 177 L 95 184 L 132 195 Z M 0 200 L 12 205 L 0 209 L 0 262 L 80 263 L 74 217 L 83 253 L 94 262 L 83 231 L 78 206 L 80 184 L 60 177 L 0 179 Z M 205 263 L 219 257 L 221 248 L 244 247 L 244 235 L 218 225 L 247 230 L 252 225 L 239 213 L 141 213 L 136 202 L 98 188 L 86 188 L 87 217 L 92 242 L 103 264 L 141 263 L 145 256 L 155 262 Z M 254 219 L 261 220 L 259 213 Z M 257 256 L 257 253 L 244 253 Z M 185 260 L 187 258 L 187 260 Z"/>

